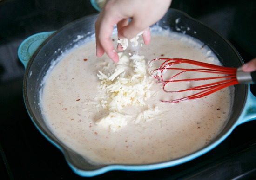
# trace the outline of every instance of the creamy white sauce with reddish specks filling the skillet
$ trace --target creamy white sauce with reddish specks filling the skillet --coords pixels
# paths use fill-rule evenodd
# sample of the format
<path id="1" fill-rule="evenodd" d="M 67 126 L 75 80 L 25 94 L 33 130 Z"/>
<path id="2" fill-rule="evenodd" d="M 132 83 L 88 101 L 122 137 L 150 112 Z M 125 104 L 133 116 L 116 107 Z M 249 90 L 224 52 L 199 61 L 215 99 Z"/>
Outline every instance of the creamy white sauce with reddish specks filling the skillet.
<path id="1" fill-rule="evenodd" d="M 136 50 L 128 48 L 126 52 L 144 55 L 147 64 L 162 57 L 218 64 L 213 54 L 199 46 L 186 37 L 181 40 L 152 34 L 150 45 L 139 45 Z M 99 71 L 111 74 L 115 67 L 105 55 L 96 58 L 95 43 L 89 42 L 56 64 L 53 71 L 48 72 L 43 86 L 41 108 L 50 129 L 92 163 L 143 164 L 182 157 L 208 144 L 229 116 L 229 88 L 202 99 L 162 103 L 160 100 L 176 95 L 164 93 L 162 85 L 155 84 L 147 72 L 147 81 L 153 82 L 150 97 L 145 98 L 147 105 L 123 107 L 121 113 L 126 123 L 121 128 L 96 124 L 109 113 L 108 109 L 98 106 L 107 95 L 100 88 L 97 74 Z M 186 96 L 190 92 L 187 93 Z M 136 120 L 139 113 L 155 107 L 158 114 L 154 118 Z"/>

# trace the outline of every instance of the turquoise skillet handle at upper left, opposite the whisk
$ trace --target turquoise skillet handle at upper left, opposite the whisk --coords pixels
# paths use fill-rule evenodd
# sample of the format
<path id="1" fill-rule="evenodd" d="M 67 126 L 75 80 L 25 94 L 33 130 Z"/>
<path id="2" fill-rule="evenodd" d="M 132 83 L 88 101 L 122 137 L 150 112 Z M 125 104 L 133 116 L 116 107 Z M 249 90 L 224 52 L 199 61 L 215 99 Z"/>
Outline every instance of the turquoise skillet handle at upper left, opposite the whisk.
<path id="1" fill-rule="evenodd" d="M 19 46 L 18 57 L 21 63 L 27 67 L 29 59 L 33 56 L 34 52 L 39 48 L 39 46 L 55 31 L 51 32 L 40 32 L 29 36 L 25 39 Z"/>

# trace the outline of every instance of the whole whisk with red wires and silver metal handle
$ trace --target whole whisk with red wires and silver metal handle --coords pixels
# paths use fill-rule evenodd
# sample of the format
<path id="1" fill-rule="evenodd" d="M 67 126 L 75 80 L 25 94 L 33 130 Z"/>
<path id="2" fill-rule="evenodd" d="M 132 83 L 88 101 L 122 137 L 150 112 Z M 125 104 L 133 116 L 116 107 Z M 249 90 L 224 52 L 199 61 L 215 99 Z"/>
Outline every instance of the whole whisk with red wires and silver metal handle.
<path id="1" fill-rule="evenodd" d="M 202 98 L 204 96 L 208 96 L 218 90 L 223 88 L 229 87 L 231 85 L 243 83 L 243 84 L 254 84 L 256 82 L 256 71 L 252 73 L 243 72 L 241 68 L 230 68 L 230 67 L 223 67 L 214 64 L 202 63 L 194 60 L 189 59 L 180 59 L 180 58 L 156 58 L 150 61 L 149 68 L 152 67 L 153 63 L 156 61 L 164 61 L 159 68 L 151 71 L 151 74 L 157 79 L 157 83 L 163 84 L 163 91 L 168 93 L 175 93 L 175 92 L 184 92 L 184 91 L 198 91 L 197 93 L 182 97 L 175 100 L 162 100 L 162 102 L 168 103 L 178 103 L 181 101 L 189 100 L 189 99 L 197 99 Z M 195 66 L 195 68 L 188 69 L 182 67 L 174 67 L 177 64 L 191 64 Z M 174 73 L 170 75 L 170 78 L 164 78 L 164 74 L 167 71 L 179 71 L 178 73 Z M 215 74 L 214 77 L 200 77 L 200 78 L 189 78 L 189 79 L 175 79 L 181 76 L 184 73 L 188 72 L 200 72 L 200 73 L 210 73 L 212 76 Z M 168 74 L 166 75 L 168 76 Z M 166 90 L 167 84 L 175 83 L 175 82 L 191 82 L 191 81 L 205 81 L 205 80 L 218 80 L 217 82 L 211 82 L 209 84 L 203 84 L 198 86 L 189 87 L 188 89 L 184 90 Z M 223 79 L 223 80 L 221 80 Z"/>

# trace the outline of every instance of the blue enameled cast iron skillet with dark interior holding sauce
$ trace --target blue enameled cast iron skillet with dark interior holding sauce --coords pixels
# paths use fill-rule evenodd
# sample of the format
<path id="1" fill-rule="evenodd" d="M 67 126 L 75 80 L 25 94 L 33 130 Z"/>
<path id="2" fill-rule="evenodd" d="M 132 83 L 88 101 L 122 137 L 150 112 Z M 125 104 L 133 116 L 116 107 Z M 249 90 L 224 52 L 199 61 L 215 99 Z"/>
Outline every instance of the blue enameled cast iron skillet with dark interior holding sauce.
<path id="1" fill-rule="evenodd" d="M 73 23 L 64 26 L 56 32 L 43 32 L 35 34 L 26 39 L 19 47 L 18 55 L 25 65 L 26 72 L 23 84 L 24 101 L 27 112 L 35 126 L 50 142 L 59 148 L 68 165 L 76 174 L 81 176 L 95 176 L 111 170 L 153 170 L 165 167 L 172 167 L 178 164 L 195 159 L 220 144 L 239 124 L 256 118 L 256 98 L 249 91 L 249 85 L 238 84 L 235 86 L 234 103 L 231 116 L 226 126 L 206 147 L 188 154 L 184 157 L 155 164 L 141 165 L 92 165 L 79 154 L 65 146 L 48 129 L 42 117 L 39 107 L 39 91 L 42 78 L 45 76 L 51 61 L 61 55 L 61 51 L 70 49 L 74 45 L 94 35 L 94 22 L 98 15 L 91 15 L 78 19 Z M 219 33 L 203 25 L 201 22 L 192 19 L 187 14 L 169 9 L 162 20 L 158 22 L 163 28 L 170 28 L 172 31 L 186 33 L 201 40 L 205 45 L 216 53 L 221 63 L 228 67 L 240 67 L 243 60 L 236 49 L 225 40 Z M 82 35 L 82 36 L 81 36 Z M 78 38 L 79 37 L 79 38 Z"/>

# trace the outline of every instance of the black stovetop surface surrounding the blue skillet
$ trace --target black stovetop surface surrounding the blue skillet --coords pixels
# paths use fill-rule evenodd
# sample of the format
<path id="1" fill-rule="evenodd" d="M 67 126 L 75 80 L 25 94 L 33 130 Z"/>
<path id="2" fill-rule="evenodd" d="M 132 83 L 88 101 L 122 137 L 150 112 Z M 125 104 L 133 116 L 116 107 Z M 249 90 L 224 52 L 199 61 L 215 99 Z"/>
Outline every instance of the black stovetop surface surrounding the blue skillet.
<path id="1" fill-rule="evenodd" d="M 236 21 L 239 17 L 237 11 L 244 14 L 241 2 L 173 0 L 171 7 L 188 13 L 220 32 L 247 62 L 256 56 L 256 37 L 251 37 L 250 42 L 245 37 L 248 33 L 241 33 L 241 29 L 237 28 L 240 25 Z M 89 0 L 0 0 L 1 180 L 83 178 L 71 170 L 61 151 L 47 141 L 30 120 L 22 95 L 25 70 L 18 59 L 17 50 L 20 43 L 30 35 L 57 30 L 75 19 L 93 13 L 97 11 Z M 249 19 L 250 17 L 250 26 L 255 26 L 255 19 L 252 16 Z M 248 19 L 240 23 L 248 24 Z M 246 46 L 252 42 L 255 51 Z M 251 91 L 256 95 L 255 85 L 251 86 Z M 256 121 L 246 122 L 209 153 L 182 165 L 142 172 L 111 171 L 91 179 L 256 179 L 255 132 Z"/>

